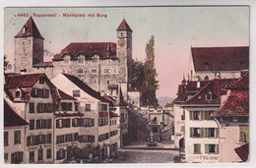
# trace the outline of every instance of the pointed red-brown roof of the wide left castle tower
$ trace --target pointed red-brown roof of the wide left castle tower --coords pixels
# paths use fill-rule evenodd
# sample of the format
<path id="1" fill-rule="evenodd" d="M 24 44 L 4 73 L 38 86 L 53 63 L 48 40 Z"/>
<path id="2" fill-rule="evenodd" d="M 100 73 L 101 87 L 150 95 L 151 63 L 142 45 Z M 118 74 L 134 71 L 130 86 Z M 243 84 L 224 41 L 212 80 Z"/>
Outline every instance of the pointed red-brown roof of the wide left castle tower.
<path id="1" fill-rule="evenodd" d="M 43 39 L 38 28 L 34 24 L 32 17 L 30 17 L 30 19 L 27 21 L 27 23 L 24 25 L 24 27 L 20 30 L 20 32 L 15 37 L 18 38 L 18 37 L 27 37 L 27 36 L 33 36 L 36 38 Z"/>

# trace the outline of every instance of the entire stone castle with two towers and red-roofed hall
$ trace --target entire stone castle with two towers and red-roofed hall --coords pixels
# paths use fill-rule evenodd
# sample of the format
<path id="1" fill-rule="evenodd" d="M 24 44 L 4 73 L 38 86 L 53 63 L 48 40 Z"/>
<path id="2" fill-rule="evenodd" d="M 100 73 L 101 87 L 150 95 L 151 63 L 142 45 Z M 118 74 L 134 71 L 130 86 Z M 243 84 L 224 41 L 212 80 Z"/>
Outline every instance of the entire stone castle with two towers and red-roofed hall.
<path id="1" fill-rule="evenodd" d="M 59 73 L 78 77 L 103 94 L 109 84 L 121 84 L 124 99 L 132 88 L 132 32 L 125 20 L 114 42 L 72 42 L 43 62 L 43 40 L 32 17 L 15 36 L 15 73 L 45 73 L 49 79 Z"/>

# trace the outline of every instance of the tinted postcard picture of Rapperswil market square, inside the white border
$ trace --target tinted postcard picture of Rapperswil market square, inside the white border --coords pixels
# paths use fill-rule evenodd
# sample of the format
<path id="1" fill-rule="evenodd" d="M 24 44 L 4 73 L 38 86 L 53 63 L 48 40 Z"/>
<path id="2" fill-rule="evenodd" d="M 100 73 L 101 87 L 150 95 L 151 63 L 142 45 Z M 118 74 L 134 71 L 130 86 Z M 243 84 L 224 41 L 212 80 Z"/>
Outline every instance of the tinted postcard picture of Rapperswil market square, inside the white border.
<path id="1" fill-rule="evenodd" d="M 249 14 L 6 7 L 3 164 L 248 163 Z"/>

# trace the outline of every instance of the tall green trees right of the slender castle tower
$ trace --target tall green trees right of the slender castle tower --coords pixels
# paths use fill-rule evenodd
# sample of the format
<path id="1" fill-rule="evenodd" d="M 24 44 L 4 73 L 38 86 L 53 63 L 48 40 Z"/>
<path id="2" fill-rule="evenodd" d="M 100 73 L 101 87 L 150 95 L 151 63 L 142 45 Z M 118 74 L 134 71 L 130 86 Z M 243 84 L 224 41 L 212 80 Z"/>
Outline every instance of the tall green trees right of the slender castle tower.
<path id="1" fill-rule="evenodd" d="M 158 74 L 155 68 L 154 36 L 147 43 L 145 63 L 133 61 L 133 86 L 142 91 L 142 105 L 158 106 L 156 90 L 159 82 L 156 80 Z"/>

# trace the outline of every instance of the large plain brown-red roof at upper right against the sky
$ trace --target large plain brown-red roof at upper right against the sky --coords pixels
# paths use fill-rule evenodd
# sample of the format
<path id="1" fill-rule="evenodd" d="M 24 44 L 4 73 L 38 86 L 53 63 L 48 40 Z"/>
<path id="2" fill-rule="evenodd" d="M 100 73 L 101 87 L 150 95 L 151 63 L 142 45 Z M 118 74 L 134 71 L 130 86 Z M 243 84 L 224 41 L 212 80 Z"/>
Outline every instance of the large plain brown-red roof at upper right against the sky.
<path id="1" fill-rule="evenodd" d="M 249 47 L 192 47 L 195 71 L 249 69 Z"/>

